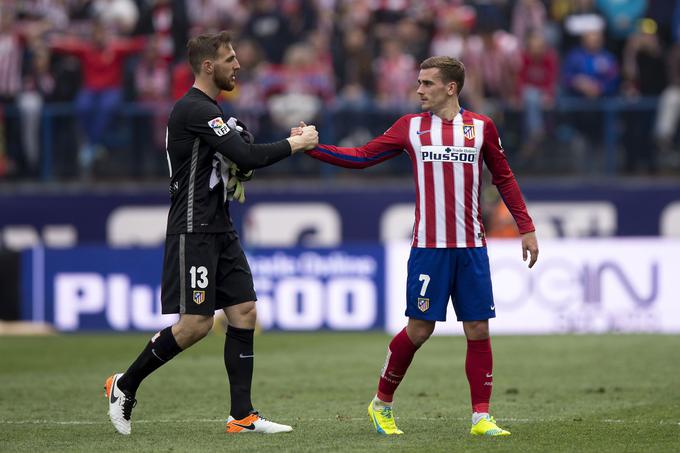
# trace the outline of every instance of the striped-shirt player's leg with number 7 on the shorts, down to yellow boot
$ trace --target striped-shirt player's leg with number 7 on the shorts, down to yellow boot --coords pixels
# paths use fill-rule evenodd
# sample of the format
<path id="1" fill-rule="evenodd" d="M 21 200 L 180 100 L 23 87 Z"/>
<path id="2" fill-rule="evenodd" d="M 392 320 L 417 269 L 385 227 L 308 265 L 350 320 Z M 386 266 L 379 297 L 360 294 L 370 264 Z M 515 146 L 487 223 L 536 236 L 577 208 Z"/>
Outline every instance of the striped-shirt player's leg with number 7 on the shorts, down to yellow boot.
<path id="1" fill-rule="evenodd" d="M 450 264 L 446 250 L 411 249 L 406 283 L 406 328 L 392 338 L 378 391 L 368 414 L 380 434 L 402 434 L 392 412 L 394 393 L 406 375 L 418 348 L 430 338 L 435 322 L 446 319 Z"/>

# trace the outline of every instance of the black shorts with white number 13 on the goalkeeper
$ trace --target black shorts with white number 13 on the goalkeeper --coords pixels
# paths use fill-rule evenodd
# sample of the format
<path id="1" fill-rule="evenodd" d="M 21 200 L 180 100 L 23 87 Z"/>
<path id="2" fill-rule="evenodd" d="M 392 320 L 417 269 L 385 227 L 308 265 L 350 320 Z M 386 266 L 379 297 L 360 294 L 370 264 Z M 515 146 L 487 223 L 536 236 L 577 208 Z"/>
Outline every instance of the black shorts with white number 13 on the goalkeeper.
<path id="1" fill-rule="evenodd" d="M 234 233 L 170 234 L 163 257 L 163 314 L 212 316 L 256 300 L 253 276 Z"/>

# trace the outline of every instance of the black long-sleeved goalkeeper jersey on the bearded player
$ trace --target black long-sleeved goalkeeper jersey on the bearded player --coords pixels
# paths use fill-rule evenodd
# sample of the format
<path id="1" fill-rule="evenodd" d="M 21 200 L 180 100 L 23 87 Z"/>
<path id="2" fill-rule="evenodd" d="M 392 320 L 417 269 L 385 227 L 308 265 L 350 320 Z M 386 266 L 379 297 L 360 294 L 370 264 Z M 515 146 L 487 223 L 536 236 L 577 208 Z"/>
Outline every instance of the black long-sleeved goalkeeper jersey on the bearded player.
<path id="1" fill-rule="evenodd" d="M 223 183 L 210 189 L 216 152 L 243 170 L 270 165 L 290 155 L 287 141 L 248 145 L 226 122 L 217 102 L 197 88 L 191 88 L 173 107 L 167 130 L 171 178 L 167 234 L 234 230 Z"/>

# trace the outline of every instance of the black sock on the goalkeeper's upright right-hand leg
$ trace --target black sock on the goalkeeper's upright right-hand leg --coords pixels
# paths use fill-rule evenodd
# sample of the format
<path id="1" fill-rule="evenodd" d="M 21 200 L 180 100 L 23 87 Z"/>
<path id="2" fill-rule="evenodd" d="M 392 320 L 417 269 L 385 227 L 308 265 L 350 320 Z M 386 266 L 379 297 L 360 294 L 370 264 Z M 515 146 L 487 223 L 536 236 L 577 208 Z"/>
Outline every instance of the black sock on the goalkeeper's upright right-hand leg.
<path id="1" fill-rule="evenodd" d="M 231 416 L 237 420 L 246 417 L 252 410 L 250 386 L 253 381 L 253 334 L 254 329 L 227 327 L 224 341 L 224 365 L 229 376 L 231 393 Z"/>

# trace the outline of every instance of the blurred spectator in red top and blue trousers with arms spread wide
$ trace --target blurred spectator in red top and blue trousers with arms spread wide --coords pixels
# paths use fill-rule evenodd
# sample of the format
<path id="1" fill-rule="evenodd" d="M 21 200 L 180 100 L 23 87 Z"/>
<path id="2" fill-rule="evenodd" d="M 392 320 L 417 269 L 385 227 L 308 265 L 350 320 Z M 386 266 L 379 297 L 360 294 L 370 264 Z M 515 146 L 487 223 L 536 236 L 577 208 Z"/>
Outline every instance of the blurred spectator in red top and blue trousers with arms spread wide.
<path id="1" fill-rule="evenodd" d="M 95 22 L 91 39 L 57 38 L 55 52 L 75 55 L 81 62 L 83 86 L 76 99 L 85 141 L 79 150 L 81 170 L 86 174 L 96 155 L 104 151 L 104 133 L 122 101 L 123 62 L 144 48 L 144 39 L 121 39 L 110 36 L 103 24 Z"/>

